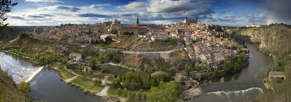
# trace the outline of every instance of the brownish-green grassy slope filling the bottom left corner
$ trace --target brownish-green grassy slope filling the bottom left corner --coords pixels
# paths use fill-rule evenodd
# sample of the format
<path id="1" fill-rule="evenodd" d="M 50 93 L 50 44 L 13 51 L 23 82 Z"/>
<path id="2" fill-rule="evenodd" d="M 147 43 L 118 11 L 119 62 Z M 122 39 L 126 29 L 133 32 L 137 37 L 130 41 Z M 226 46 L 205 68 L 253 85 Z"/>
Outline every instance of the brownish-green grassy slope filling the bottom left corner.
<path id="1" fill-rule="evenodd" d="M 6 102 L 29 102 L 29 100 L 25 98 L 25 94 L 17 90 L 16 84 L 12 78 L 0 72 L 0 94 L 1 93 L 5 94 Z"/>

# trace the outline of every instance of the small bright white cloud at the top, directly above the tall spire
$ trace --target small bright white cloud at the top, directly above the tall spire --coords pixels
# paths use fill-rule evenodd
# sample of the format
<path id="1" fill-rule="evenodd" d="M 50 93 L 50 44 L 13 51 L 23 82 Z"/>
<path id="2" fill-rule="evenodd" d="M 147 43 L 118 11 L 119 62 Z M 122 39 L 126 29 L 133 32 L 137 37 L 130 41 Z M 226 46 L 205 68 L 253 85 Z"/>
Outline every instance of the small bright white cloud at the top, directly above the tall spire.
<path id="1" fill-rule="evenodd" d="M 117 6 L 117 9 L 129 9 L 129 10 L 136 10 L 136 9 L 144 9 L 146 7 L 145 2 L 130 2 L 127 5 Z"/>

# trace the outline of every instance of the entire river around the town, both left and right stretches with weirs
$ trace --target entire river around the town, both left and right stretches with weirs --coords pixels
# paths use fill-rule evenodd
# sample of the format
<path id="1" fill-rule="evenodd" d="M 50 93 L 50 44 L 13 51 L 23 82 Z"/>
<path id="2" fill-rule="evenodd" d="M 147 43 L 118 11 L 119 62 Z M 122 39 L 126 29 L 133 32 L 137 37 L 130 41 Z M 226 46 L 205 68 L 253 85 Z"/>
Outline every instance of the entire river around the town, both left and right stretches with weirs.
<path id="1" fill-rule="evenodd" d="M 253 44 L 247 45 L 250 50 L 249 63 L 241 71 L 218 79 L 203 79 L 202 95 L 189 102 L 242 102 L 250 101 L 259 94 L 259 68 L 272 65 L 271 57 L 256 49 Z M 22 58 L 9 54 L 1 54 L 0 65 L 3 70 L 13 76 L 16 83 L 31 81 L 31 96 L 36 100 L 48 102 L 105 102 L 101 97 L 83 94 L 82 90 L 61 81 L 58 72 L 33 65 Z"/>

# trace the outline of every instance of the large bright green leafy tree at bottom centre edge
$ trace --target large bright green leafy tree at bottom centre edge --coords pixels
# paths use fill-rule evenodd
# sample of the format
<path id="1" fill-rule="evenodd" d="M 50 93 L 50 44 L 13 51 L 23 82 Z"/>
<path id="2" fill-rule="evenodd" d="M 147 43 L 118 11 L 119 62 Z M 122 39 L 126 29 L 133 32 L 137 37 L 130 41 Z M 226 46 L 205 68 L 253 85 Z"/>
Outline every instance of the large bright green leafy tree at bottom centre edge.
<path id="1" fill-rule="evenodd" d="M 160 82 L 158 87 L 151 87 L 147 96 L 148 102 L 176 102 L 179 96 L 176 81 Z"/>

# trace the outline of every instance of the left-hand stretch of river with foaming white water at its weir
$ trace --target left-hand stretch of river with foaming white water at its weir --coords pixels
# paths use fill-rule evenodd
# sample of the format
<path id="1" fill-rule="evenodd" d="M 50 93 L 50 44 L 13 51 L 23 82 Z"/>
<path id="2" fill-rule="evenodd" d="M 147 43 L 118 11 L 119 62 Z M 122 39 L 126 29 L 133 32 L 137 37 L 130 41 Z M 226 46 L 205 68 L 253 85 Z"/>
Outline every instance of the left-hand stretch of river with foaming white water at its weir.
<path id="1" fill-rule="evenodd" d="M 83 94 L 83 91 L 71 87 L 65 81 L 61 81 L 58 72 L 43 66 L 33 65 L 31 62 L 17 58 L 10 54 L 0 54 L 2 70 L 8 70 L 16 83 L 30 81 L 32 92 L 30 95 L 35 100 L 48 102 L 112 102 L 104 101 L 99 96 Z"/>

